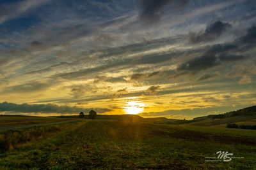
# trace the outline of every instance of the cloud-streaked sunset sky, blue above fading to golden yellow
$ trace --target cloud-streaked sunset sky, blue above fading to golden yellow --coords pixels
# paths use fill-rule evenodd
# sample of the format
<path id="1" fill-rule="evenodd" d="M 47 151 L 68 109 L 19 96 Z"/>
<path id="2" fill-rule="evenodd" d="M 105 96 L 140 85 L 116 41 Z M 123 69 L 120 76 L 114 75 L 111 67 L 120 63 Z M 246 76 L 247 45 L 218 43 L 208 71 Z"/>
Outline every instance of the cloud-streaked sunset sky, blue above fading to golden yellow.
<path id="1" fill-rule="evenodd" d="M 256 104 L 256 1 L 1 0 L 0 113 L 191 119 Z"/>

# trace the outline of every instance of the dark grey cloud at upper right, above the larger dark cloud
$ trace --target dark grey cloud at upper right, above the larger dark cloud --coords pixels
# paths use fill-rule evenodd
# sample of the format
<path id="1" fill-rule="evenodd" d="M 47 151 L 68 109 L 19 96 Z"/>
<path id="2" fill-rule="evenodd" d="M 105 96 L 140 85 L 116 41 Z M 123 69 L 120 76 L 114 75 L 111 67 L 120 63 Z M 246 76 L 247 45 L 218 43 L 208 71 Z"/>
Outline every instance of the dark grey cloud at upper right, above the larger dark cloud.
<path id="1" fill-rule="evenodd" d="M 230 24 L 221 22 L 220 20 L 208 25 L 205 31 L 198 33 L 191 32 L 188 36 L 191 43 L 199 43 L 203 41 L 212 41 L 213 39 L 218 38 L 227 31 L 228 27 L 231 27 Z"/>

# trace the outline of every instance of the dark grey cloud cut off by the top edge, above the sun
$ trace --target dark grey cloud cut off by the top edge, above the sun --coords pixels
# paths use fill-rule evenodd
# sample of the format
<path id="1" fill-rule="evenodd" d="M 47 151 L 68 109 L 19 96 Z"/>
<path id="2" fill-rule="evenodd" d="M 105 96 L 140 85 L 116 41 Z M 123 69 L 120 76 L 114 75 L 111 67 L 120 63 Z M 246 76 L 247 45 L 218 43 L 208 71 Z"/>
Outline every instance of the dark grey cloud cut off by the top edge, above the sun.
<path id="1" fill-rule="evenodd" d="M 188 3 L 188 0 L 141 0 L 140 19 L 147 22 L 156 22 L 163 15 L 164 8 L 170 3 L 184 6 Z"/>

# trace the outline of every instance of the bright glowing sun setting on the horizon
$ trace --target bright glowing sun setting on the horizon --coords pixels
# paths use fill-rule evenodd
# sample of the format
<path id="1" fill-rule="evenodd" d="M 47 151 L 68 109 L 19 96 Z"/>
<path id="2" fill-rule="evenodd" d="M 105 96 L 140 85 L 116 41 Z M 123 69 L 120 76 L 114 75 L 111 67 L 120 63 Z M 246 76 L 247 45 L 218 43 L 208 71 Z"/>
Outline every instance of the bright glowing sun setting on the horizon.
<path id="1" fill-rule="evenodd" d="M 129 115 L 137 115 L 139 113 L 142 113 L 144 110 L 145 104 L 139 103 L 136 101 L 129 101 L 124 106 L 124 111 L 126 114 Z"/>

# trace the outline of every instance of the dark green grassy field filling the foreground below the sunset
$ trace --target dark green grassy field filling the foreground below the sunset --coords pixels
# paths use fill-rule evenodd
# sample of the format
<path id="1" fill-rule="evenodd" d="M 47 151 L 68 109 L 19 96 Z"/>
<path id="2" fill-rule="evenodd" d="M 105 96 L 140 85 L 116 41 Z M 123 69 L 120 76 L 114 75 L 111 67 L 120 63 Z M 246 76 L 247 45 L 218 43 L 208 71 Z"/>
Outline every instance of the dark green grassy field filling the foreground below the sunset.
<path id="1" fill-rule="evenodd" d="M 256 169 L 244 129 L 82 120 L 0 132 L 0 146 L 1 169 Z M 243 159 L 205 162 L 219 150 Z"/>

